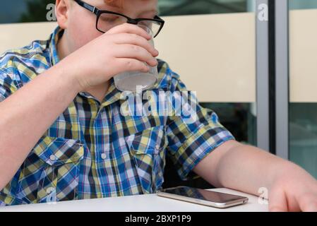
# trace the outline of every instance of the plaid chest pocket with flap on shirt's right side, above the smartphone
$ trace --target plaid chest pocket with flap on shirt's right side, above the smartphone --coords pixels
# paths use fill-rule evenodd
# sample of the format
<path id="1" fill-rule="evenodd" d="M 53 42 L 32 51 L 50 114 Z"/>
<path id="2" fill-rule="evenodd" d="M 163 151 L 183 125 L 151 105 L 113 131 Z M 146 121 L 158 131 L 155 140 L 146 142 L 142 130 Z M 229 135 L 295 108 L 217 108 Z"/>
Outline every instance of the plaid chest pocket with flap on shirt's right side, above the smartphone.
<path id="1" fill-rule="evenodd" d="M 156 126 L 128 136 L 127 143 L 143 194 L 155 193 L 164 182 L 168 145 L 165 127 Z"/>

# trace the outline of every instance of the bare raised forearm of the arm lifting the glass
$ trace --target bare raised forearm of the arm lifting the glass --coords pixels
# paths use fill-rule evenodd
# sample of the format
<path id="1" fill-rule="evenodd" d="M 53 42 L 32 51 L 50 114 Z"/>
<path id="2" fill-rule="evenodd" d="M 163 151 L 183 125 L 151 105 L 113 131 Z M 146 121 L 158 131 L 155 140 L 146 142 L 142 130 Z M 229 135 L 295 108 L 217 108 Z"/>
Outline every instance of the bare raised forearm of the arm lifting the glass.
<path id="1" fill-rule="evenodd" d="M 0 103 L 0 189 L 76 97 L 78 87 L 65 70 L 61 61 Z"/>

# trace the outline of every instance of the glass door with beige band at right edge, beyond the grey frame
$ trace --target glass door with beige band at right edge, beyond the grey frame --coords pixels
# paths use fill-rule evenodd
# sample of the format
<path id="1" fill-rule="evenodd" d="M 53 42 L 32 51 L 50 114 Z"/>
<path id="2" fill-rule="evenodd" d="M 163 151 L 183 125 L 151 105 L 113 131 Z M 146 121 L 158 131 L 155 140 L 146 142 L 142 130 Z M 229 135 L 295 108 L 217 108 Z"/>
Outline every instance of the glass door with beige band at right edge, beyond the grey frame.
<path id="1" fill-rule="evenodd" d="M 289 160 L 317 178 L 317 0 L 289 0 Z"/>

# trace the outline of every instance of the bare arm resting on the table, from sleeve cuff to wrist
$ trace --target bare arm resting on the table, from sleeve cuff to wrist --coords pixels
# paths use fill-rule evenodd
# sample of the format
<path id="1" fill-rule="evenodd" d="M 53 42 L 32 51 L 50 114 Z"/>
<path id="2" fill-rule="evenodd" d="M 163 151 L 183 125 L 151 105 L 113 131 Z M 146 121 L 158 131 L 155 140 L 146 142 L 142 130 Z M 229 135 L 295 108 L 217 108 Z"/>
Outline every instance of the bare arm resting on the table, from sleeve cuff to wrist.
<path id="1" fill-rule="evenodd" d="M 300 174 L 304 169 L 256 147 L 227 141 L 213 150 L 194 168 L 194 172 L 216 187 L 227 187 L 249 194 L 268 191 L 277 180 Z"/>

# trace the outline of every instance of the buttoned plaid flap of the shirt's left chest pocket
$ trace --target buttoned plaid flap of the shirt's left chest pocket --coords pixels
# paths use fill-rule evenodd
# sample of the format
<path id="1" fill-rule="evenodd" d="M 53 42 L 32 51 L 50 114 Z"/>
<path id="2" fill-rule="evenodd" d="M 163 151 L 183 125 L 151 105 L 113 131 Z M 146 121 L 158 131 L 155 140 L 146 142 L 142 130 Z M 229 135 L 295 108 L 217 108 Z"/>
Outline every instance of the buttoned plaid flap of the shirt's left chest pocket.
<path id="1" fill-rule="evenodd" d="M 37 142 L 32 153 L 49 165 L 63 165 L 82 160 L 84 146 L 78 140 L 45 136 Z"/>

